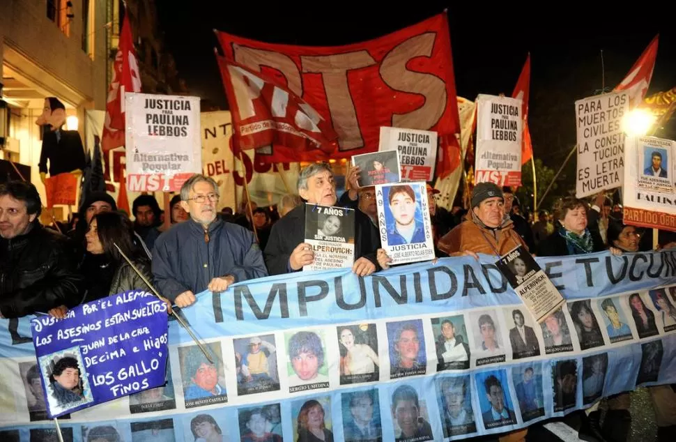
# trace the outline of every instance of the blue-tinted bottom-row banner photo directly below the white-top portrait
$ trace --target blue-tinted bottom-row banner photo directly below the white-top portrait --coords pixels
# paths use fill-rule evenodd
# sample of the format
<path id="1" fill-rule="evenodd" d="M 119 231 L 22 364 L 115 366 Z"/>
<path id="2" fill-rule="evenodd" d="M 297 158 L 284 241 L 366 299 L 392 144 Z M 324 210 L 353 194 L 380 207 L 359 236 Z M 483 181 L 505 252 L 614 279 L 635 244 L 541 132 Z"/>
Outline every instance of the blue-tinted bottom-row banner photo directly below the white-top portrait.
<path id="1" fill-rule="evenodd" d="M 361 390 L 341 395 L 345 442 L 381 442 L 381 413 L 378 390 Z"/>

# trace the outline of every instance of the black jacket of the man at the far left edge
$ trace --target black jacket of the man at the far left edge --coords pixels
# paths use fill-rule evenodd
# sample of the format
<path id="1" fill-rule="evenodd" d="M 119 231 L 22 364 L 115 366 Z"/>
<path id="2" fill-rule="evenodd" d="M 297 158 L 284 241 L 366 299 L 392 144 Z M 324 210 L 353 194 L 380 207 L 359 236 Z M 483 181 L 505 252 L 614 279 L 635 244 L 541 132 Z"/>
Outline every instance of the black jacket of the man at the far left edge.
<path id="1" fill-rule="evenodd" d="M 75 307 L 84 279 L 70 240 L 34 222 L 24 235 L 0 238 L 0 312 L 3 317 Z"/>

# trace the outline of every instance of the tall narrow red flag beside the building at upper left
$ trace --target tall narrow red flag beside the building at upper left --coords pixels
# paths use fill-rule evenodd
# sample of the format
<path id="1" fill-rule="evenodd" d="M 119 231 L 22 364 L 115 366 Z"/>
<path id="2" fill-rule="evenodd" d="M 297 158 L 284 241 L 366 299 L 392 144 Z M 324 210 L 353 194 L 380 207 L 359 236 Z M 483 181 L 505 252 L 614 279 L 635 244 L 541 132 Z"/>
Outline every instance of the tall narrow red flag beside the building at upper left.
<path id="1" fill-rule="evenodd" d="M 125 145 L 124 93 L 141 91 L 139 63 L 134 49 L 132 29 L 125 15 L 120 43 L 115 56 L 114 77 L 108 88 L 106 119 L 103 123 L 101 148 L 103 153 Z"/>

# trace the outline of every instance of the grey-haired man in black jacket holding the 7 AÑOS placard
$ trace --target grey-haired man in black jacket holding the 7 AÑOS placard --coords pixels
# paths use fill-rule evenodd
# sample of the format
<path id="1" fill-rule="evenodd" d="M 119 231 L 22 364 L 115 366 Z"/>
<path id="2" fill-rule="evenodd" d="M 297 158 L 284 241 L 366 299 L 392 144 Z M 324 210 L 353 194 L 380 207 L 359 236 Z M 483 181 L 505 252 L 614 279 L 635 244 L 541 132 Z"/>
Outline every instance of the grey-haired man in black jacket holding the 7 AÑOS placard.
<path id="1" fill-rule="evenodd" d="M 314 163 L 298 177 L 298 193 L 308 204 L 335 206 L 336 183 L 331 167 Z M 367 215 L 355 211 L 355 264 L 352 271 L 366 276 L 378 270 L 376 251 L 381 247 L 378 230 Z M 265 250 L 270 275 L 302 270 L 314 262 L 312 245 L 305 243 L 305 204 L 294 208 L 272 226 Z"/>

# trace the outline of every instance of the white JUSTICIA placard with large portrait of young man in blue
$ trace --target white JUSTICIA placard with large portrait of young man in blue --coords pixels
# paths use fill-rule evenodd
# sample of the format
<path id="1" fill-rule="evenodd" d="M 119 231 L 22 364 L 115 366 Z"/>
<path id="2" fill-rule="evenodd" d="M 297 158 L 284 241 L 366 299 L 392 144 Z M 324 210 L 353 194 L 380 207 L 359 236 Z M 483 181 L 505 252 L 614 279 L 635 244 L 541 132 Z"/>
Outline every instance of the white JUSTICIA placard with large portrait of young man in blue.
<path id="1" fill-rule="evenodd" d="M 426 183 L 376 186 L 381 244 L 392 264 L 434 258 Z"/>

